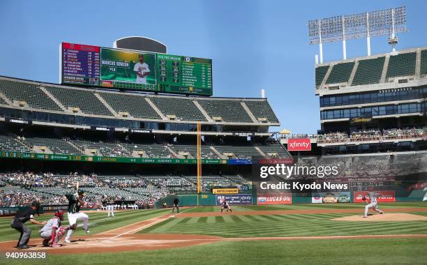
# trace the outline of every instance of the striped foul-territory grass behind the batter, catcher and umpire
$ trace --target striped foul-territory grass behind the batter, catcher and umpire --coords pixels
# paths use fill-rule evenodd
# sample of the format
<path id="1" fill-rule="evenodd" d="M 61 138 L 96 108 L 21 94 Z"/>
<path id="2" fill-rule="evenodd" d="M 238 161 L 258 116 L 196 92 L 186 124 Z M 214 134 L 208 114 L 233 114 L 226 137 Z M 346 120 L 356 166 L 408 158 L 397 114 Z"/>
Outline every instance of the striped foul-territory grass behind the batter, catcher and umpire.
<path id="1" fill-rule="evenodd" d="M 91 234 L 97 234 L 117 227 L 123 227 L 124 225 L 130 225 L 134 222 L 147 220 L 154 218 L 158 215 L 169 212 L 167 209 L 161 210 L 142 210 L 142 211 L 123 211 L 114 213 L 114 218 L 107 218 L 107 213 L 98 213 L 96 211 L 88 213 L 89 215 L 89 231 Z M 35 216 L 38 221 L 45 221 L 52 218 L 53 215 L 40 215 Z M 20 234 L 13 228 L 10 227 L 10 221 L 12 218 L 0 218 L 0 241 L 17 240 Z M 82 225 L 82 221 L 77 221 L 79 227 Z M 33 225 L 30 222 L 26 223 L 27 227 L 31 229 L 31 236 L 38 236 L 38 230 L 40 225 Z M 64 216 L 62 225 L 68 225 L 67 216 Z M 73 233 L 73 236 L 84 235 L 83 229 L 77 228 Z"/>

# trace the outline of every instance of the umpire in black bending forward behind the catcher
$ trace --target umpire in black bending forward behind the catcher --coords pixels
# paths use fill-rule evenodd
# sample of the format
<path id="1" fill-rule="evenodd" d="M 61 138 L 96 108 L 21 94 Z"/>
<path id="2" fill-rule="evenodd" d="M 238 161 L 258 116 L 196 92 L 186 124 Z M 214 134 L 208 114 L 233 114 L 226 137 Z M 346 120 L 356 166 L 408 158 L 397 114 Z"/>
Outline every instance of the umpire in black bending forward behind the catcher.
<path id="1" fill-rule="evenodd" d="M 34 220 L 34 214 L 38 213 L 38 210 L 40 209 L 40 203 L 39 202 L 33 202 L 31 203 L 31 206 L 28 209 L 25 209 L 24 211 L 17 211 L 15 217 L 13 218 L 12 222 L 10 222 L 10 226 L 17 229 L 21 233 L 20 240 L 17 243 L 17 248 L 19 249 L 26 249 L 28 248 L 28 241 L 29 237 L 31 236 L 31 230 L 24 225 L 24 222 L 27 222 L 28 220 L 35 225 L 45 225 L 46 222 L 38 222 Z"/>

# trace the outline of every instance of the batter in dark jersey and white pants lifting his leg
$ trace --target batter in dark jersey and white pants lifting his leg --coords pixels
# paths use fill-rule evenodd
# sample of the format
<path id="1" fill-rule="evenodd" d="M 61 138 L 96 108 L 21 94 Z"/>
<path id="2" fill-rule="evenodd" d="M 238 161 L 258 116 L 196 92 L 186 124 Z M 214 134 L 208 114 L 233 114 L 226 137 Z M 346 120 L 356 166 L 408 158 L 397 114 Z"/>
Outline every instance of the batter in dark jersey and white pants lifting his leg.
<path id="1" fill-rule="evenodd" d="M 67 194 L 68 199 L 68 223 L 70 224 L 70 229 L 68 229 L 66 236 L 66 243 L 71 243 L 70 236 L 73 234 L 74 230 L 77 228 L 77 220 L 83 220 L 83 229 L 84 232 L 89 234 L 89 229 L 87 227 L 87 222 L 89 222 L 89 216 L 86 213 L 80 213 L 80 207 L 84 205 L 83 197 L 84 191 L 77 190 L 75 194 Z"/>

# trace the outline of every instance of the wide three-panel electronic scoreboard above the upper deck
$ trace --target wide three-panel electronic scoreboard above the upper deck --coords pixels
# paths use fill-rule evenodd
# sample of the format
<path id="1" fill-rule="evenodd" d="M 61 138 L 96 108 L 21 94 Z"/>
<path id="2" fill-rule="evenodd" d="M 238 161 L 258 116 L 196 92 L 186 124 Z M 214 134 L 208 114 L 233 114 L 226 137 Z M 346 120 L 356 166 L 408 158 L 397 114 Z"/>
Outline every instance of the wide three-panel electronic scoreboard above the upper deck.
<path id="1" fill-rule="evenodd" d="M 212 60 L 62 43 L 61 84 L 212 96 Z"/>

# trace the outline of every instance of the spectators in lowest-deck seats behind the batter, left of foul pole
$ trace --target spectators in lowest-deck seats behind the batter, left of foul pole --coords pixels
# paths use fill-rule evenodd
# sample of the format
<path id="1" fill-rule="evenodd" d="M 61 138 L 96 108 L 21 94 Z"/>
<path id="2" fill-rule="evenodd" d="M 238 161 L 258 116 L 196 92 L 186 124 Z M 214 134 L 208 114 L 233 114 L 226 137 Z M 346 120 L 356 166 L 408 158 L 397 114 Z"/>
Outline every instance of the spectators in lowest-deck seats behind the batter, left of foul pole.
<path id="1" fill-rule="evenodd" d="M 102 204 L 105 201 L 125 202 L 135 198 L 126 195 L 111 195 L 109 189 L 126 190 L 126 188 L 143 188 L 144 194 L 153 200 L 160 199 L 174 192 L 167 188 L 167 179 L 145 179 L 143 177 L 99 177 L 97 174 L 53 174 L 52 172 L 7 172 L 0 173 L 0 207 L 25 206 L 33 201 L 42 204 L 67 204 L 68 200 L 63 195 L 53 195 L 49 188 L 75 188 L 77 181 L 80 188 L 87 188 L 86 201 L 91 206 Z M 43 188 L 47 188 L 44 190 Z M 100 192 L 91 192 L 91 188 L 98 188 Z M 100 189 L 99 189 L 100 188 Z M 105 192 L 103 192 L 105 191 Z M 64 193 L 65 194 L 65 193 Z"/>

